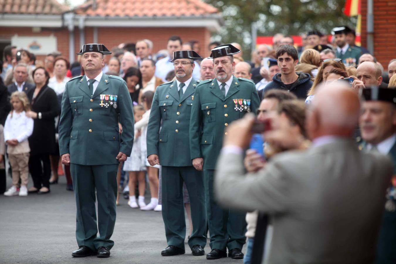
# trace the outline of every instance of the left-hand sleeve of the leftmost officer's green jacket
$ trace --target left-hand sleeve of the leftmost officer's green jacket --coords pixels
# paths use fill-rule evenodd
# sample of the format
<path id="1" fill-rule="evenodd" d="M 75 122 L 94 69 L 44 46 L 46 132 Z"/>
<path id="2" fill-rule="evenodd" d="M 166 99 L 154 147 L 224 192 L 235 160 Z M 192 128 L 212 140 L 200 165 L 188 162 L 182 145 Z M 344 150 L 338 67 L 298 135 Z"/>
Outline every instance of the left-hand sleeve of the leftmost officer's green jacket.
<path id="1" fill-rule="evenodd" d="M 62 96 L 62 105 L 61 105 L 61 119 L 59 121 L 59 154 L 62 156 L 63 154 L 70 153 L 69 152 L 69 142 L 70 142 L 70 131 L 72 128 L 72 110 L 69 103 L 69 92 L 68 92 L 68 84 L 66 83 L 65 91 Z"/>

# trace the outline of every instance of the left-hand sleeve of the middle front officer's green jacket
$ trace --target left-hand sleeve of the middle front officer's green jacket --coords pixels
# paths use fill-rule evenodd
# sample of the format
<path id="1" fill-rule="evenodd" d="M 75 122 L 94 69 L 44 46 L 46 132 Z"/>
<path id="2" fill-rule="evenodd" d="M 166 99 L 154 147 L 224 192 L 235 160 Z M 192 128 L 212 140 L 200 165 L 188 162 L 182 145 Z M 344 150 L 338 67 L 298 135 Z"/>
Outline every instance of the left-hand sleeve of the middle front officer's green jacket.
<path id="1" fill-rule="evenodd" d="M 157 87 L 154 92 L 154 98 L 151 104 L 150 117 L 147 124 L 147 157 L 152 154 L 158 155 L 158 133 L 161 125 L 161 109 L 158 105 L 158 90 Z"/>

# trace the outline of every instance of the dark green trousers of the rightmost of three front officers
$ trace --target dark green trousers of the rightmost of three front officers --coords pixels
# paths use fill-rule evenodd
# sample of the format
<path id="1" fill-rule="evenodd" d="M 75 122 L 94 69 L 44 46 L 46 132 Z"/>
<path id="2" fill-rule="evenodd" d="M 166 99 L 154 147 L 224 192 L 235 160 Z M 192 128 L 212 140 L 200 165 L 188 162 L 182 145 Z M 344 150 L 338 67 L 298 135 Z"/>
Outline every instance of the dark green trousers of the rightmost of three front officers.
<path id="1" fill-rule="evenodd" d="M 233 212 L 220 207 L 213 193 L 215 171 L 204 169 L 206 196 L 206 213 L 210 234 L 210 248 L 227 252 L 231 249 L 242 249 L 246 242 L 246 213 Z"/>

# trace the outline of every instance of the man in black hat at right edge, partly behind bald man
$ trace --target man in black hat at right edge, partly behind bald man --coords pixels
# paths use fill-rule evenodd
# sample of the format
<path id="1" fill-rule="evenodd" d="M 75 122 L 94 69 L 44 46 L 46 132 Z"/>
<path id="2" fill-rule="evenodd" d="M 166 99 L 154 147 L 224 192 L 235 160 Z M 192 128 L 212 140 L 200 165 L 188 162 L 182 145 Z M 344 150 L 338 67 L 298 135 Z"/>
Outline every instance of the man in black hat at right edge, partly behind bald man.
<path id="1" fill-rule="evenodd" d="M 361 148 L 392 158 L 393 177 L 386 190 L 381 230 L 377 243 L 377 264 L 396 263 L 396 90 L 367 88 L 359 119 L 364 142 Z"/>

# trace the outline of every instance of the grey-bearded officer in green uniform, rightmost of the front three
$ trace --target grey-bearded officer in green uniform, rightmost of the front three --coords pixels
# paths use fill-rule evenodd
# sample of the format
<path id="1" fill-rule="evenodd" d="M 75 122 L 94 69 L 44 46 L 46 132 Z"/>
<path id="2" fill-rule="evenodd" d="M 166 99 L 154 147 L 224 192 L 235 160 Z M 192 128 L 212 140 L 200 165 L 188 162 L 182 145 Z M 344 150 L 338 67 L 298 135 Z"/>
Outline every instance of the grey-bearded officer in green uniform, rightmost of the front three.
<path id="1" fill-rule="evenodd" d="M 225 127 L 247 112 L 255 113 L 260 103 L 255 84 L 232 75 L 235 66 L 232 55 L 238 52 L 231 44 L 211 50 L 216 78 L 200 82 L 192 101 L 190 155 L 192 165 L 204 171 L 211 248 L 207 259 L 226 257 L 227 248 L 228 256 L 243 258 L 241 249 L 246 240 L 244 214 L 219 207 L 213 195 L 214 169 Z"/>

